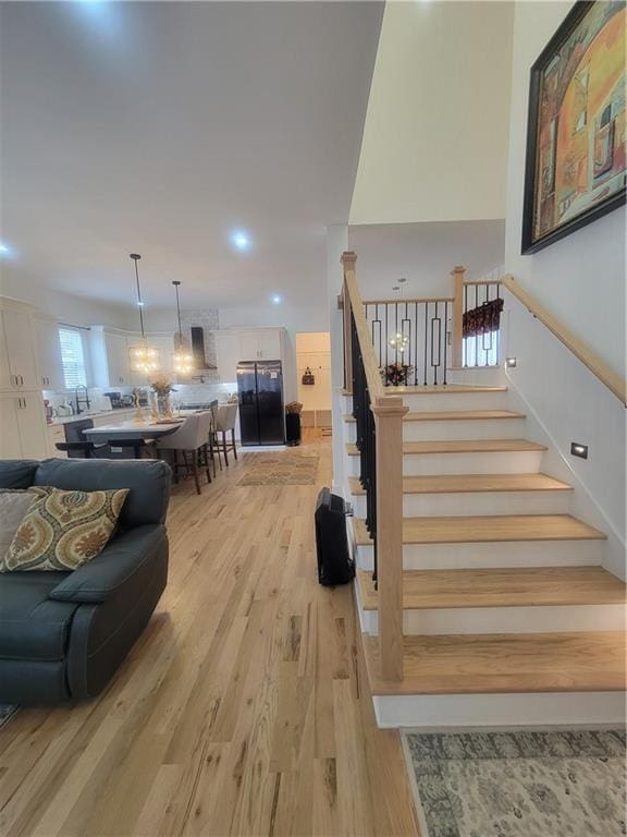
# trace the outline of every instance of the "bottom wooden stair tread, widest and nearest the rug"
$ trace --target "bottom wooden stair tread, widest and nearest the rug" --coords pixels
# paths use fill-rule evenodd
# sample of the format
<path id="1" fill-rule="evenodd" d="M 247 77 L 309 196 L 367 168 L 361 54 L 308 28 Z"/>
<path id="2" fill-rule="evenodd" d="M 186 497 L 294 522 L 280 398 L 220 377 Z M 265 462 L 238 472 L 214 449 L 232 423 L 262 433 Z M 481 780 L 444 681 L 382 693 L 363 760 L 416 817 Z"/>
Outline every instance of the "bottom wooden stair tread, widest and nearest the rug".
<path id="1" fill-rule="evenodd" d="M 608 692 L 625 689 L 623 631 L 404 636 L 404 678 L 378 676 L 376 636 L 364 636 L 372 694 Z"/>

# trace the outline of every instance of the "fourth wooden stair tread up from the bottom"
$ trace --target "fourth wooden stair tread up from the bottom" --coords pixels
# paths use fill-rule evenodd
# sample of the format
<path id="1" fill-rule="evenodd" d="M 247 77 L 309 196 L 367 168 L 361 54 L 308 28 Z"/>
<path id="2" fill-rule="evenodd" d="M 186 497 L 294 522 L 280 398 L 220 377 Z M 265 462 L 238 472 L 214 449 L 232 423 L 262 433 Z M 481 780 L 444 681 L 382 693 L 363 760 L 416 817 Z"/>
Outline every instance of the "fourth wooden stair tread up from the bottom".
<path id="1" fill-rule="evenodd" d="M 357 476 L 348 477 L 351 493 L 366 494 Z M 573 486 L 546 474 L 445 474 L 404 476 L 404 494 L 470 492 L 571 492 Z"/>

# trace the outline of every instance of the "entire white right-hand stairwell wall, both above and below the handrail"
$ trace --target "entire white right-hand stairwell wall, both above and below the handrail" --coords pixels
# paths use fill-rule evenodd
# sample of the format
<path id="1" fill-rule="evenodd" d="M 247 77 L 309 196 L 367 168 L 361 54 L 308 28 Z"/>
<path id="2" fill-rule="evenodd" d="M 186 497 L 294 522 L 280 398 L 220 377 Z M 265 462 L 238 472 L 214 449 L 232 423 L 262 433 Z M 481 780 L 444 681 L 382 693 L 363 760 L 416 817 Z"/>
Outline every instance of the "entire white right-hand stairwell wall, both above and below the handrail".
<path id="1" fill-rule="evenodd" d="M 530 256 L 520 255 L 529 69 L 571 3 L 516 3 L 505 269 L 551 313 L 625 374 L 625 210 Z M 529 435 L 550 446 L 546 468 L 575 482 L 575 513 L 608 536 L 606 566 L 625 575 L 626 411 L 526 308 L 506 299 L 505 352 Z M 570 456 L 570 442 L 589 459 Z"/>

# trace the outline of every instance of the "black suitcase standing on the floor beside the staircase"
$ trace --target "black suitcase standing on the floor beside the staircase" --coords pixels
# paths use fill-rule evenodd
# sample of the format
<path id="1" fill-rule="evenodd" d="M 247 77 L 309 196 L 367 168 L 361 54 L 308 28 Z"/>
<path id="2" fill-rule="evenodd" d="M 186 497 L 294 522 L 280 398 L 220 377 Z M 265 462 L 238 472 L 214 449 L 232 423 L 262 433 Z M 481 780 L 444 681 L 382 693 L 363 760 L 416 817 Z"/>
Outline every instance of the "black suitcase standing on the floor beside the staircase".
<path id="1" fill-rule="evenodd" d="M 325 587 L 347 584 L 355 578 L 355 562 L 348 553 L 344 500 L 322 488 L 316 502 L 316 550 L 318 580 Z"/>

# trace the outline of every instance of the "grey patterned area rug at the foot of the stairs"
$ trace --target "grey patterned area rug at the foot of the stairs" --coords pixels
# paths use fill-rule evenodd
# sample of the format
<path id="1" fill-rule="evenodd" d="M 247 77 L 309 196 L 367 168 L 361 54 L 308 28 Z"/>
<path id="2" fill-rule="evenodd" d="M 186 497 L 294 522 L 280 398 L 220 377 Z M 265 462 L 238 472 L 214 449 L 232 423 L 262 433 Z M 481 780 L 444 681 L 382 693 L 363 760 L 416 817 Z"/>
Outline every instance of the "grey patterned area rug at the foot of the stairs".
<path id="1" fill-rule="evenodd" d="M 421 837 L 619 837 L 625 731 L 403 732 Z"/>

